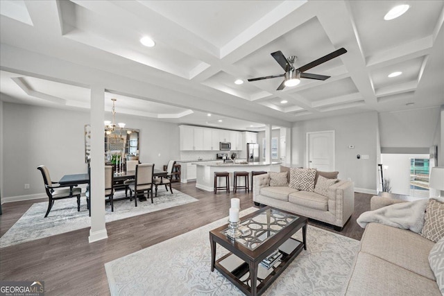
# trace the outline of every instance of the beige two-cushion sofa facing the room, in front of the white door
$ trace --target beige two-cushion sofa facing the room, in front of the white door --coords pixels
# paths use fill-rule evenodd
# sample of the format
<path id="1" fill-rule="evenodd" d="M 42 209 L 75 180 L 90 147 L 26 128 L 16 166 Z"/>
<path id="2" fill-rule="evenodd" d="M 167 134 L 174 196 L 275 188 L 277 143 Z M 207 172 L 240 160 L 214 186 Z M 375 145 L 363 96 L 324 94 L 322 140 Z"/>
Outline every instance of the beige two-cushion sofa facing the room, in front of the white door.
<path id="1" fill-rule="evenodd" d="M 353 183 L 339 180 L 328 189 L 328 197 L 289 186 L 270 186 L 270 175 L 255 175 L 253 201 L 334 225 L 341 231 L 355 209 Z"/>

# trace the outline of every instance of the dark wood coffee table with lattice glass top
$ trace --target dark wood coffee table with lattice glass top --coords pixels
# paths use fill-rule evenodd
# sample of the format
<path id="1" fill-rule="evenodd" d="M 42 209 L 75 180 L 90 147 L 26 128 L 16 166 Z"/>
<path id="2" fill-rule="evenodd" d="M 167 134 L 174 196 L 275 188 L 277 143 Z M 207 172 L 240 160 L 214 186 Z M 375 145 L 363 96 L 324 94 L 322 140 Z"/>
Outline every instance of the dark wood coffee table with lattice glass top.
<path id="1" fill-rule="evenodd" d="M 219 270 L 246 295 L 261 295 L 307 250 L 307 218 L 264 207 L 241 218 L 242 236 L 227 236 L 228 224 L 210 231 L 211 271 Z M 239 227 L 240 228 L 240 227 Z M 302 241 L 291 238 L 302 228 Z M 230 253 L 216 260 L 216 243 Z"/>

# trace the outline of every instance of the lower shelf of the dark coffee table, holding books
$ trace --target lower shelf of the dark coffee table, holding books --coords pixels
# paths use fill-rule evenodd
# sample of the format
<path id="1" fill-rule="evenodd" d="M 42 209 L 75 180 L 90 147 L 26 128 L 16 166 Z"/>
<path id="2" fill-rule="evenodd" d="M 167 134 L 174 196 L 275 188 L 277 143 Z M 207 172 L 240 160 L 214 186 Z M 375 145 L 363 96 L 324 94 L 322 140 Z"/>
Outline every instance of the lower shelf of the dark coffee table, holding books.
<path id="1" fill-rule="evenodd" d="M 285 268 L 288 267 L 291 261 L 298 256 L 302 249 L 304 249 L 304 243 L 294 238 L 289 238 L 279 248 L 282 257 L 278 259 L 271 268 L 267 269 L 260 263 L 257 263 L 257 289 L 255 290 L 257 295 L 264 293 L 265 290 L 273 284 L 273 281 L 275 281 Z M 289 254 L 285 251 L 289 252 Z M 229 279 L 246 295 L 252 295 L 249 275 L 250 266 L 247 262 L 230 252 L 216 260 L 214 268 L 219 270 L 222 275 Z"/>

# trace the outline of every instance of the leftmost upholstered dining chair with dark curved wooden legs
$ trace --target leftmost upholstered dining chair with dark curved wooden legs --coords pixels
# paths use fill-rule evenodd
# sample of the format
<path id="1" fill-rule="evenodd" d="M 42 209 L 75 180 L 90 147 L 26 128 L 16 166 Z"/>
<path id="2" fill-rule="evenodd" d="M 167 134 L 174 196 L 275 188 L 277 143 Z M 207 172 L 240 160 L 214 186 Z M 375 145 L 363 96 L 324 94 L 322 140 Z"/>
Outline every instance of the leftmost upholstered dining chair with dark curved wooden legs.
<path id="1" fill-rule="evenodd" d="M 46 191 L 46 195 L 48 195 L 49 203 L 48 209 L 46 210 L 46 214 L 44 218 L 46 218 L 51 211 L 54 201 L 61 200 L 63 198 L 77 198 L 77 211 L 80 211 L 80 193 L 82 189 L 73 188 L 74 186 L 61 186 L 57 182 L 52 182 L 51 177 L 49 175 L 49 170 L 46 166 L 38 166 L 37 170 L 42 172 L 44 189 Z M 67 188 L 69 187 L 69 188 Z"/>

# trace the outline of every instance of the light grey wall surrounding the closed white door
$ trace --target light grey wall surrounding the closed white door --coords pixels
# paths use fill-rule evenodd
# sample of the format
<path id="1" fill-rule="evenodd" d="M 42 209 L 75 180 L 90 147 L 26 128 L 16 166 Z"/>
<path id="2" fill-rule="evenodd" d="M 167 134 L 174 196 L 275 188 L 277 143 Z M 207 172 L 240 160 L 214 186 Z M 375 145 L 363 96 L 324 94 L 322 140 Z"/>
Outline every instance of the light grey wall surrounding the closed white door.
<path id="1" fill-rule="evenodd" d="M 292 166 L 307 166 L 307 132 L 334 130 L 339 178 L 350 178 L 355 182 L 356 191 L 376 193 L 377 124 L 377 112 L 296 122 L 292 135 Z M 349 145 L 354 145 L 355 149 L 349 149 Z M 357 159 L 358 154 L 369 155 L 369 159 Z"/>

